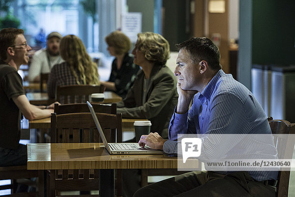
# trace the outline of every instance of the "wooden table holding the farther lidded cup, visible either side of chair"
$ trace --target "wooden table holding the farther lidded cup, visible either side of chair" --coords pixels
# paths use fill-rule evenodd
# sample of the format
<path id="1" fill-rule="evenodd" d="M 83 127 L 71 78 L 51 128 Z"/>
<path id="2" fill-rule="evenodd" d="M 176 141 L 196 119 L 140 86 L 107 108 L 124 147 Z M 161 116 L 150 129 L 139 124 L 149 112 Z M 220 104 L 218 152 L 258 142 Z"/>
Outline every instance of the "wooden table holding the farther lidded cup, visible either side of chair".
<path id="1" fill-rule="evenodd" d="M 35 105 L 49 105 L 54 102 L 54 99 L 49 99 L 47 93 L 27 93 L 27 98 L 31 104 Z M 105 91 L 104 92 L 104 100 L 101 102 L 94 102 L 94 103 L 112 103 L 112 102 L 119 102 L 122 100 L 120 96 L 118 96 L 114 92 Z"/>

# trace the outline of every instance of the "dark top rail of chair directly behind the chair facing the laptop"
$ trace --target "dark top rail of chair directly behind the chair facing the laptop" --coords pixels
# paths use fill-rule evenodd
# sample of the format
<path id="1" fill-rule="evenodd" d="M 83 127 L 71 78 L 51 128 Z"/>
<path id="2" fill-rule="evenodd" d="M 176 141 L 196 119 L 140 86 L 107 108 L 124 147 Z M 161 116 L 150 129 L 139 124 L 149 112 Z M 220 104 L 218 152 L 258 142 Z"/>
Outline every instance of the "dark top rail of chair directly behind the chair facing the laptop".
<path id="1" fill-rule="evenodd" d="M 91 103 L 94 111 L 99 113 L 106 114 L 117 114 L 117 103 L 112 104 L 99 104 Z M 71 104 L 62 104 L 59 105 L 55 103 L 54 113 L 59 114 L 68 114 L 68 113 L 89 113 L 89 107 L 87 103 L 71 103 Z"/>

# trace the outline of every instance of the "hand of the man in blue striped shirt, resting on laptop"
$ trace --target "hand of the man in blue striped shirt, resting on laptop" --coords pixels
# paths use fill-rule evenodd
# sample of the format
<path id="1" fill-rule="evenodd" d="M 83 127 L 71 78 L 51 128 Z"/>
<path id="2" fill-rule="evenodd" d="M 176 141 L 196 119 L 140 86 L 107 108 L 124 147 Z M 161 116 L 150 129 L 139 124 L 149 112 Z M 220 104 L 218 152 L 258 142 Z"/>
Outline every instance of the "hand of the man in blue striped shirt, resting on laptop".
<path id="1" fill-rule="evenodd" d="M 148 145 L 150 148 L 163 150 L 165 141 L 167 141 L 167 139 L 162 138 L 157 132 L 151 132 L 148 135 L 142 135 L 138 144 L 141 147 Z"/>

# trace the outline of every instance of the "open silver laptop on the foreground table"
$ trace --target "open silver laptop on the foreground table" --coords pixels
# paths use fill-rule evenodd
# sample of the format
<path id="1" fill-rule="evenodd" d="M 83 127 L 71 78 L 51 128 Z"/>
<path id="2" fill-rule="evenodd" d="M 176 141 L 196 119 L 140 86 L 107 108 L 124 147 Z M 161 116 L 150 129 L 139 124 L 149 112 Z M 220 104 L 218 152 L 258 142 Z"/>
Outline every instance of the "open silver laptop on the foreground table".
<path id="1" fill-rule="evenodd" d="M 147 145 L 144 148 L 142 148 L 141 146 L 139 146 L 138 143 L 108 143 L 107 138 L 105 137 L 104 132 L 102 131 L 102 128 L 100 126 L 100 123 L 97 119 L 97 116 L 92 105 L 89 103 L 89 101 L 87 101 L 87 104 L 91 112 L 92 118 L 94 120 L 94 123 L 96 125 L 96 128 L 102 139 L 102 142 L 111 155 L 163 154 L 163 151 L 152 149 Z"/>

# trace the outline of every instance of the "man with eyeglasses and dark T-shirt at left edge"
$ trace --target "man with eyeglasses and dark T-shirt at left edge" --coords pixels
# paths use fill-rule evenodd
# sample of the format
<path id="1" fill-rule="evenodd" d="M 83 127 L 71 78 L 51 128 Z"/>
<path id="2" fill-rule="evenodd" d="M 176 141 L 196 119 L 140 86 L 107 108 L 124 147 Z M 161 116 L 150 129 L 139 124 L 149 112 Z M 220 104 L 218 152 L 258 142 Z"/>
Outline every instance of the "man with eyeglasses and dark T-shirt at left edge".
<path id="1" fill-rule="evenodd" d="M 53 106 L 29 103 L 18 74 L 28 64 L 31 47 L 24 31 L 6 28 L 0 31 L 0 166 L 26 165 L 27 147 L 19 144 L 21 113 L 29 120 L 49 117 Z"/>

